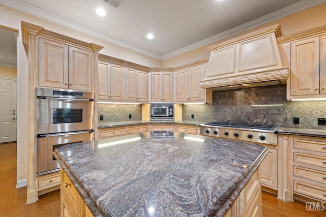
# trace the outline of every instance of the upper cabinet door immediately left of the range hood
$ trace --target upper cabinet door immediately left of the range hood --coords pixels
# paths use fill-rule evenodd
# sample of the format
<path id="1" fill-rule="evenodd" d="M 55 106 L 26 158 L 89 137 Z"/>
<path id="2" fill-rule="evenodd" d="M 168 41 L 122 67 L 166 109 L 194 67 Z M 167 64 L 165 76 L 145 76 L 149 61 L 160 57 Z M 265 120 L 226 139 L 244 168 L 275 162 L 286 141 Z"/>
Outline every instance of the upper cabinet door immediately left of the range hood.
<path id="1" fill-rule="evenodd" d="M 189 97 L 191 101 L 203 101 L 204 89 L 199 83 L 204 79 L 204 66 L 189 69 Z"/>

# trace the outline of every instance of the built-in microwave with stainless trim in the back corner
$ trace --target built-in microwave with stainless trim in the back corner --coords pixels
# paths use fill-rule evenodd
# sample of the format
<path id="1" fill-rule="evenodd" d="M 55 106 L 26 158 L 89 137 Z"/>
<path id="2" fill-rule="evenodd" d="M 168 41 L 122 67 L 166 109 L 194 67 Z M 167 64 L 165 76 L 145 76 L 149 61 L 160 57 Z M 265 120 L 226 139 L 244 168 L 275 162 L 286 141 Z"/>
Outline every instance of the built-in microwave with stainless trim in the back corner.
<path id="1" fill-rule="evenodd" d="M 151 120 L 174 120 L 173 103 L 151 103 Z"/>

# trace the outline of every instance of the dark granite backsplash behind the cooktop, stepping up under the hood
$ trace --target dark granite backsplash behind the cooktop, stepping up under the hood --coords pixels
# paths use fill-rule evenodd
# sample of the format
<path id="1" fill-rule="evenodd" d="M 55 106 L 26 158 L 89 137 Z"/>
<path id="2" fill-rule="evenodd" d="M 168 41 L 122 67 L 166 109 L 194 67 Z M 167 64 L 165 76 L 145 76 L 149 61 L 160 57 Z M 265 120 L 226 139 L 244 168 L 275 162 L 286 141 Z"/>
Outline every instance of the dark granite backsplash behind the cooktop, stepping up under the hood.
<path id="1" fill-rule="evenodd" d="M 326 117 L 326 101 L 287 101 L 286 84 L 213 91 L 212 96 L 212 104 L 182 105 L 182 120 L 326 130 L 317 125 L 318 117 Z M 300 124 L 293 124 L 293 117 Z"/>

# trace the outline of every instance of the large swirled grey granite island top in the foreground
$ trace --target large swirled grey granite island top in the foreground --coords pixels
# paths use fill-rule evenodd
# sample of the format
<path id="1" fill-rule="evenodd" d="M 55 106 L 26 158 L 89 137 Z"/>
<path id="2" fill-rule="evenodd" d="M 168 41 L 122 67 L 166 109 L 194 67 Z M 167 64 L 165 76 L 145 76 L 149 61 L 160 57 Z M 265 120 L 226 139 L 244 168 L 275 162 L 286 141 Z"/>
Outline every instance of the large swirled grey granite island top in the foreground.
<path id="1" fill-rule="evenodd" d="M 223 216 L 267 152 L 253 143 L 152 132 L 68 144 L 53 154 L 97 216 Z"/>

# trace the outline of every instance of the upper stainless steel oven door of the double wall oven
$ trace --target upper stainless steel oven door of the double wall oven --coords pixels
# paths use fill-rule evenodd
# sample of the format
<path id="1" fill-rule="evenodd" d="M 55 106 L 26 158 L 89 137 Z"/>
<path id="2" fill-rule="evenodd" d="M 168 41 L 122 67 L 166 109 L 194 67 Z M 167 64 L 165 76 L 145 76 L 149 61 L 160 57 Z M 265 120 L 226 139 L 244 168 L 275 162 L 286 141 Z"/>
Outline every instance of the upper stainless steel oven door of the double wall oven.
<path id="1" fill-rule="evenodd" d="M 37 98 L 37 134 L 93 129 L 94 101 Z"/>

